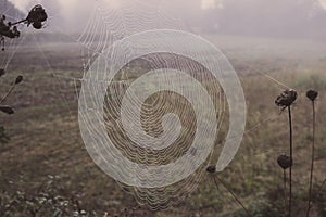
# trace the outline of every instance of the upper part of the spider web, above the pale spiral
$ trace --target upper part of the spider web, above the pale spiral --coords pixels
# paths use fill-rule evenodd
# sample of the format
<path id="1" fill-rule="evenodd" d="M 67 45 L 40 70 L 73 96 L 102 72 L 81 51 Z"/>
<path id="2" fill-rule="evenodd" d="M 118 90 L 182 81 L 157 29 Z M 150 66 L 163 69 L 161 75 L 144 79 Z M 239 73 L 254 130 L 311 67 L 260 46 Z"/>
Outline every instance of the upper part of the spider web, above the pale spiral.
<path id="1" fill-rule="evenodd" d="M 115 1 L 110 1 L 115 2 Z M 112 8 L 111 8 L 112 7 Z M 78 42 L 98 54 L 116 40 L 152 29 L 184 29 L 178 18 L 164 9 L 163 1 L 118 1 L 118 5 L 98 1 Z"/>

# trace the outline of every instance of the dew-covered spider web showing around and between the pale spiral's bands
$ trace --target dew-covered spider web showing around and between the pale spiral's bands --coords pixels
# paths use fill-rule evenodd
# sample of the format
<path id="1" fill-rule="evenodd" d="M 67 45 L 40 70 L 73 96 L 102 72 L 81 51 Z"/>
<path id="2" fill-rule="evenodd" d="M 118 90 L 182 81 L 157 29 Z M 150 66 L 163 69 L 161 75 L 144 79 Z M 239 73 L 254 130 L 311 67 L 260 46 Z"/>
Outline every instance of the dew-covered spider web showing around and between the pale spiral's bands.
<path id="1" fill-rule="evenodd" d="M 97 72 L 95 69 L 97 66 L 92 65 L 93 61 L 98 56 L 105 55 L 105 51 L 114 46 L 116 41 L 123 40 L 135 34 L 152 29 L 168 28 L 189 30 L 176 14 L 173 14 L 172 11 L 167 10 L 167 7 L 164 5 L 163 1 L 152 1 L 151 3 L 140 0 L 131 2 L 120 1 L 118 5 L 115 5 L 113 1 L 111 2 L 111 7 L 108 7 L 108 4 L 101 1 L 96 3 L 95 10 L 88 20 L 84 33 L 77 40 L 85 47 L 83 56 L 86 56 L 84 61 L 84 78 L 82 81 L 87 79 L 87 72 Z M 128 52 L 134 52 L 131 46 Z M 191 143 L 192 138 L 187 138 L 186 135 L 193 135 L 191 130 L 196 128 L 193 120 L 189 118 L 189 116 L 191 116 L 191 111 L 187 110 L 186 101 L 183 101 L 183 99 L 172 92 L 158 94 L 148 99 L 148 101 L 143 104 L 141 117 L 145 131 L 153 137 L 159 137 L 160 133 L 162 133 L 162 128 L 160 126 L 162 115 L 156 115 L 153 111 L 159 111 L 159 114 L 164 114 L 171 110 L 175 113 L 178 113 L 178 111 L 186 111 L 178 114 L 178 116 L 183 119 L 184 115 L 184 126 L 186 126 L 188 131 L 184 131 L 186 139 L 183 138 L 177 145 L 172 145 L 171 148 L 160 152 L 153 152 L 135 145 L 127 139 L 120 117 L 123 97 L 126 94 L 127 89 L 131 86 L 134 80 L 150 69 L 160 68 L 162 66 L 173 67 L 173 64 L 176 64 L 176 62 L 178 62 L 177 68 L 186 72 L 188 71 L 192 77 L 197 78 L 201 82 L 204 82 L 209 78 L 208 74 L 201 74 L 200 76 L 196 74 L 196 72 L 202 72 L 203 69 L 199 65 L 189 63 L 187 60 L 180 60 L 178 56 L 173 55 L 162 58 L 162 55 L 153 54 L 142 56 L 140 60 L 135 60 L 134 62 L 128 63 L 115 75 L 111 85 L 108 87 L 104 105 L 104 119 L 108 135 L 113 141 L 115 141 L 114 143 L 116 144 L 116 148 L 124 154 L 124 156 L 135 163 L 142 165 L 166 164 L 184 155 L 190 148 L 189 143 Z M 105 68 L 110 71 L 110 66 Z M 137 73 L 135 73 L 135 68 L 137 69 Z M 279 89 L 287 88 L 286 85 L 266 75 L 266 73 L 256 69 L 252 71 L 277 84 Z M 98 82 L 100 85 L 105 85 L 105 82 L 101 84 L 103 82 L 101 80 L 98 80 Z M 217 114 L 220 129 L 222 127 L 221 123 L 225 118 L 225 112 L 227 112 L 226 101 L 224 98 L 225 95 L 217 84 L 213 84 L 213 86 L 208 89 L 211 90 L 211 93 L 216 94 L 213 95 L 213 99 L 215 99 L 214 105 L 217 111 L 220 111 Z M 76 90 L 77 94 L 79 90 Z M 183 103 L 178 104 L 178 102 Z M 167 104 L 170 104 L 170 108 Z M 246 133 L 250 133 L 252 130 L 255 130 L 267 122 L 276 119 L 278 116 L 279 112 L 276 112 L 274 115 L 266 117 L 250 129 L 247 129 Z M 103 151 L 105 151 L 105 149 Z M 262 150 L 262 152 L 271 152 L 271 150 Z M 275 150 L 273 152 L 275 152 Z M 134 194 L 140 204 L 146 204 L 153 210 L 164 209 L 181 202 L 189 195 L 190 192 L 197 189 L 198 184 L 204 177 L 205 167 L 210 161 L 211 158 L 209 157 L 206 162 L 204 162 L 196 170 L 196 173 L 188 178 L 164 188 L 139 188 L 130 187 L 122 182 L 118 183 L 122 186 L 122 189 Z"/>

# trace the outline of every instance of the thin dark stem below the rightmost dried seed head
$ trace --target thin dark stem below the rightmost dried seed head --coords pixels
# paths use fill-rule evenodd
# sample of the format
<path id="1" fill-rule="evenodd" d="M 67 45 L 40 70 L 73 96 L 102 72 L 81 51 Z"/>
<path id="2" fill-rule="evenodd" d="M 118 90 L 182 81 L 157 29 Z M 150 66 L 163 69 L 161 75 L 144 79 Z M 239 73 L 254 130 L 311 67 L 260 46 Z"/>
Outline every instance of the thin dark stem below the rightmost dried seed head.
<path id="1" fill-rule="evenodd" d="M 312 141 L 312 154 L 311 154 L 311 168 L 310 168 L 309 199 L 308 199 L 306 217 L 309 217 L 309 213 L 310 213 L 310 209 L 311 209 L 312 181 L 313 181 L 313 173 L 314 173 L 315 125 L 316 125 L 315 101 L 312 101 L 312 106 L 313 106 L 313 141 Z"/>

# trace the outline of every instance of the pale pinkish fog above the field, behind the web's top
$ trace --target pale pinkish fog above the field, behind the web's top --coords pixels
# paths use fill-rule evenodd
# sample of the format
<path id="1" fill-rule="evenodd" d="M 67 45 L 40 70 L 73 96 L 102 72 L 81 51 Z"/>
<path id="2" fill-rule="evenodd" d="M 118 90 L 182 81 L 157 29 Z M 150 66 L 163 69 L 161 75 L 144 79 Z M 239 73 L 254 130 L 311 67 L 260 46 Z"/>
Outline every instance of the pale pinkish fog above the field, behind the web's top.
<path id="1" fill-rule="evenodd" d="M 101 16 L 97 9 L 118 13 L 102 18 L 114 23 L 124 17 L 139 23 L 173 20 L 197 34 L 249 35 L 272 38 L 326 39 L 326 0 L 10 0 L 27 13 L 41 3 L 49 13 L 48 29 L 79 33 L 89 20 Z M 133 2 L 133 3 L 131 3 Z M 149 14 L 149 16 L 146 16 Z M 118 16 L 118 17 L 115 17 Z M 149 17 L 149 18 L 147 18 Z M 128 20 L 128 18 L 133 18 Z M 109 21 L 110 20 L 110 21 Z M 104 22 L 105 23 L 105 22 Z M 178 24 L 176 24 L 178 23 Z M 179 25 L 179 26 L 178 26 Z M 140 25 L 141 26 L 141 25 Z M 166 27 L 166 26 L 165 26 Z M 116 29 L 115 29 L 116 30 Z"/>

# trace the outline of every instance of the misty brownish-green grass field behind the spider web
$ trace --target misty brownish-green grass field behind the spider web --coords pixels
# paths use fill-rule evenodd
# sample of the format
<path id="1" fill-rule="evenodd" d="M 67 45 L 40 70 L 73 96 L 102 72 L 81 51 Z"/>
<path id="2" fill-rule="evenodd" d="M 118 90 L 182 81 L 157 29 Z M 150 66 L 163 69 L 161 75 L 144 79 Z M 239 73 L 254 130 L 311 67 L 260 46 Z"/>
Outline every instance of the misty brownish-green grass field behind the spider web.
<path id="1" fill-rule="evenodd" d="M 276 159 L 288 152 L 289 129 L 287 113 L 277 115 L 280 110 L 274 101 L 284 90 L 275 80 L 285 84 L 299 94 L 292 108 L 293 216 L 305 216 L 312 141 L 312 110 L 305 91 L 313 88 L 319 97 L 311 216 L 326 216 L 326 187 L 318 190 L 326 178 L 326 46 L 231 36 L 205 38 L 225 52 L 239 74 L 248 108 L 248 131 L 240 151 L 220 178 L 252 216 L 283 216 L 283 170 Z M 3 94 L 18 74 L 24 76 L 7 101 L 16 114 L 0 114 L 0 125 L 11 138 L 0 144 L 0 216 L 246 216 L 222 186 L 215 189 L 209 174 L 174 208 L 151 212 L 138 207 L 128 189 L 122 190 L 102 173 L 79 132 L 80 82 L 70 79 L 83 77 L 85 60 L 76 44 L 30 44 L 20 49 L 8 75 L 1 78 Z M 211 163 L 215 164 L 215 158 Z"/>

